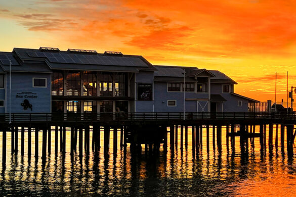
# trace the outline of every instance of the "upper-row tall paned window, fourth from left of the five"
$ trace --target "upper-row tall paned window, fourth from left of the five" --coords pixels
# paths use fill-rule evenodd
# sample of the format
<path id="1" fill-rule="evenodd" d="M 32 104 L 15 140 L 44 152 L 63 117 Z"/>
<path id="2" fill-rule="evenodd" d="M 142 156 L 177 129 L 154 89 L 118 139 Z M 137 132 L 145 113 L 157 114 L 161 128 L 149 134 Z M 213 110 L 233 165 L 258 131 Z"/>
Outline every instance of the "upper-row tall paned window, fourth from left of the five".
<path id="1" fill-rule="evenodd" d="M 112 73 L 102 73 L 99 75 L 100 96 L 113 96 L 112 93 Z"/>

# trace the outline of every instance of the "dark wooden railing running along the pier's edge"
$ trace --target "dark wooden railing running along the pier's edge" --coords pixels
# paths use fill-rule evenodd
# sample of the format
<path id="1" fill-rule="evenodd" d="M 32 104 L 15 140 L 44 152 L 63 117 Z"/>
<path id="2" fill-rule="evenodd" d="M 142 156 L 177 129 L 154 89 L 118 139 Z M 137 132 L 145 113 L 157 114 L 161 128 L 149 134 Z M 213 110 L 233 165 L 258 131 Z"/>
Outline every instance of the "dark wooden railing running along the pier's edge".
<path id="1" fill-rule="evenodd" d="M 277 112 L 157 112 L 157 113 L 13 113 L 11 122 L 64 121 L 148 121 L 202 119 L 285 119 L 296 120 L 296 113 Z M 9 114 L 0 114 L 0 123 L 9 122 Z"/>

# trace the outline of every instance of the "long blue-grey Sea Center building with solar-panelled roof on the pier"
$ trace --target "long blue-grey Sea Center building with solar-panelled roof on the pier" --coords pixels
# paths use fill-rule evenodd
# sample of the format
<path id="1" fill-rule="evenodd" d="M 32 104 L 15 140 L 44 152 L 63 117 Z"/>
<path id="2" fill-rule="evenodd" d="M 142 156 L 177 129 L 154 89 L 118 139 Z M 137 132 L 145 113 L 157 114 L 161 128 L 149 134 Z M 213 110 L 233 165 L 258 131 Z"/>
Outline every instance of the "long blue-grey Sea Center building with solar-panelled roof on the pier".
<path id="1" fill-rule="evenodd" d="M 234 93 L 235 84 L 219 71 L 153 66 L 120 52 L 0 52 L 0 113 L 183 112 L 184 100 L 186 112 L 247 112 L 258 101 Z"/>

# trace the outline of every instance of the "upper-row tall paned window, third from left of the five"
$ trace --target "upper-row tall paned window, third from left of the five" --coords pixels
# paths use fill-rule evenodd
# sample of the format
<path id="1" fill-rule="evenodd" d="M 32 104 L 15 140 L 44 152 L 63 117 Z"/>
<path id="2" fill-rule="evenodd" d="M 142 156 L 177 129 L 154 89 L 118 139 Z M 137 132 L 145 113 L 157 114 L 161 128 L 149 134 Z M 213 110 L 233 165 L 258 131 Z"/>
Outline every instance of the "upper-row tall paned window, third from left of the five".
<path id="1" fill-rule="evenodd" d="M 83 96 L 97 96 L 97 75 L 89 71 L 83 74 Z"/>

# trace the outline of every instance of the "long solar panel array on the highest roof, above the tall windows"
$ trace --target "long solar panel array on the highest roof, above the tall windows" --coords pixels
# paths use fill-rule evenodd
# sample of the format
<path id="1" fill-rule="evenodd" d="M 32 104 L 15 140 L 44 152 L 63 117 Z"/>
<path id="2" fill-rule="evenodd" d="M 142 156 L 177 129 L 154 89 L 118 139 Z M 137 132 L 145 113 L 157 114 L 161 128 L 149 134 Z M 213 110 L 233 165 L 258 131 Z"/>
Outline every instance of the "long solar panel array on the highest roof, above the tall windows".
<path id="1" fill-rule="evenodd" d="M 27 54 L 34 58 L 47 58 L 51 63 L 148 67 L 140 58 L 132 57 L 44 52 L 27 52 Z"/>

